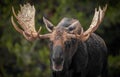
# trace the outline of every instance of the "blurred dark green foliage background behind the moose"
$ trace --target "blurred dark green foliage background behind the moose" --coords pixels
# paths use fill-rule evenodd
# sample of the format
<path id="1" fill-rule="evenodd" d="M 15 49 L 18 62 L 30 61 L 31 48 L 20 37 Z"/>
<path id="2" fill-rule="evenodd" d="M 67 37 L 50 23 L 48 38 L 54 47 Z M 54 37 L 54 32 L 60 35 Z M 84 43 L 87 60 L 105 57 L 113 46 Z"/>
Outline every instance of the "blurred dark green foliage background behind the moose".
<path id="1" fill-rule="evenodd" d="M 109 51 L 109 77 L 120 77 L 120 0 L 0 0 L 0 77 L 50 77 L 47 40 L 27 41 L 13 28 L 10 18 L 19 4 L 30 3 L 36 8 L 35 24 L 41 34 L 47 33 L 42 17 L 54 25 L 63 18 L 76 18 L 86 30 L 94 8 L 108 4 L 103 22 L 95 33 L 106 42 Z"/>

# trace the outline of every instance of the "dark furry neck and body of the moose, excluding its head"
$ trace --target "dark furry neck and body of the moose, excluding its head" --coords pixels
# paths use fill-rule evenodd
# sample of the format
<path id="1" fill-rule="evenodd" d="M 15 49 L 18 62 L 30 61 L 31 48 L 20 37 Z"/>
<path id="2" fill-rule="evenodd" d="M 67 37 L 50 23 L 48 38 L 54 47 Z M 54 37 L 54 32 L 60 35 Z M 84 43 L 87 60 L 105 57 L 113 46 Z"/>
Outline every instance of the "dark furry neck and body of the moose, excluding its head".
<path id="1" fill-rule="evenodd" d="M 67 59 L 62 71 L 53 71 L 53 77 L 107 77 L 107 48 L 101 37 L 92 33 L 85 42 L 72 39 L 66 45 L 67 54 L 75 53 L 70 54 L 72 58 Z"/>

